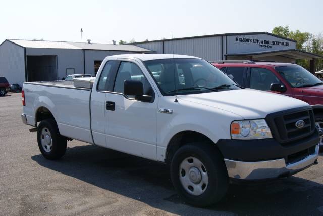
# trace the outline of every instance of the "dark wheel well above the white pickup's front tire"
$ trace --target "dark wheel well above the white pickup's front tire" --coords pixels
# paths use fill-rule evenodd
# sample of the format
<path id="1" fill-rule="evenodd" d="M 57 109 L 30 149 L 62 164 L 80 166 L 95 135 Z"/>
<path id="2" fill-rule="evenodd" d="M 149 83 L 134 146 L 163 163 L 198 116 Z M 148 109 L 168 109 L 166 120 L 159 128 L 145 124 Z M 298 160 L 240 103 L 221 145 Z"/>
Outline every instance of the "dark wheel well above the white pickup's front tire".
<path id="1" fill-rule="evenodd" d="M 188 143 L 193 143 L 193 142 L 203 142 L 203 143 L 210 143 L 214 144 L 214 142 L 206 137 L 205 135 L 195 132 L 195 131 L 182 131 L 177 133 L 172 137 L 170 140 L 167 149 L 166 149 L 166 158 L 165 162 L 170 163 L 172 161 L 172 158 L 181 146 L 188 144 Z M 214 146 L 216 146 L 214 144 Z"/>

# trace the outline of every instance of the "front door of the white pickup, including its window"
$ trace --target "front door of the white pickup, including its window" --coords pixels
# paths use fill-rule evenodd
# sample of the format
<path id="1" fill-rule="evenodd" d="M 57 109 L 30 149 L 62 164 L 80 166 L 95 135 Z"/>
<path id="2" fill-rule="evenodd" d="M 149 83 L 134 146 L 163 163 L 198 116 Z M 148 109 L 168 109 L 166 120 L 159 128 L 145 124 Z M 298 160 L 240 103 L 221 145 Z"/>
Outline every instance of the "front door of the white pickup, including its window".
<path id="1" fill-rule="evenodd" d="M 154 91 L 135 61 L 120 61 L 112 91 L 105 95 L 105 139 L 108 148 L 156 160 L 157 97 L 151 102 L 124 94 L 125 80 L 139 80 L 144 95 Z"/>

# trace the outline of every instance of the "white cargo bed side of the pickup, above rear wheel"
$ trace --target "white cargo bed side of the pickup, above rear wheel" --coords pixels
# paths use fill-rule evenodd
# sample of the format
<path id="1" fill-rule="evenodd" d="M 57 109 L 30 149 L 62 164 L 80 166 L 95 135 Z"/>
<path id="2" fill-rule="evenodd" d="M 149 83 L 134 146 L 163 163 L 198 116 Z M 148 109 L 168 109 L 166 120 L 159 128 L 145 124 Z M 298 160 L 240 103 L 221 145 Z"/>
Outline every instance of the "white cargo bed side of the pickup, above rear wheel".
<path id="1" fill-rule="evenodd" d="M 45 107 L 55 117 L 61 135 L 93 143 L 89 88 L 74 87 L 73 81 L 25 82 L 23 88 L 28 124 L 35 126 L 39 107 Z"/>

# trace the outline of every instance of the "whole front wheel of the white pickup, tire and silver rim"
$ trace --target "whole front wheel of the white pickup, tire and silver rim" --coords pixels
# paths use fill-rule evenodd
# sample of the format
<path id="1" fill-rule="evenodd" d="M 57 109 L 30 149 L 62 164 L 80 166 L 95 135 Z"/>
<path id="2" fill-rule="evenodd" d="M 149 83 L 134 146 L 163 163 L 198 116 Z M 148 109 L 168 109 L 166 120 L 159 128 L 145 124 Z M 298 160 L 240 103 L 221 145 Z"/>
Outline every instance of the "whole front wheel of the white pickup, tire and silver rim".
<path id="1" fill-rule="evenodd" d="M 214 144 L 192 143 L 179 148 L 172 159 L 171 179 L 178 194 L 199 207 L 219 202 L 229 186 L 224 158 Z"/>

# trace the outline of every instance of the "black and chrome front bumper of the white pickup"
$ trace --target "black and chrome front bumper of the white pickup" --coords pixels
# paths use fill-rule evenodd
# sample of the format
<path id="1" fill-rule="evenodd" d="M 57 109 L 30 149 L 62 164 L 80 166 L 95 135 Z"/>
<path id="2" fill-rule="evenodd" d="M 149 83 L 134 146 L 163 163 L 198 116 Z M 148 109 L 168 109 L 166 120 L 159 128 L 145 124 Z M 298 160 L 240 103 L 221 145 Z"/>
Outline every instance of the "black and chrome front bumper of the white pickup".
<path id="1" fill-rule="evenodd" d="M 263 140 L 220 139 L 217 146 L 225 158 L 229 177 L 263 180 L 286 177 L 315 163 L 318 158 L 318 131 L 288 144 L 274 138 Z"/>

